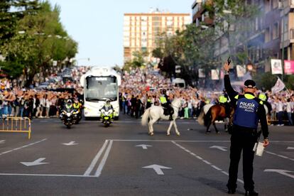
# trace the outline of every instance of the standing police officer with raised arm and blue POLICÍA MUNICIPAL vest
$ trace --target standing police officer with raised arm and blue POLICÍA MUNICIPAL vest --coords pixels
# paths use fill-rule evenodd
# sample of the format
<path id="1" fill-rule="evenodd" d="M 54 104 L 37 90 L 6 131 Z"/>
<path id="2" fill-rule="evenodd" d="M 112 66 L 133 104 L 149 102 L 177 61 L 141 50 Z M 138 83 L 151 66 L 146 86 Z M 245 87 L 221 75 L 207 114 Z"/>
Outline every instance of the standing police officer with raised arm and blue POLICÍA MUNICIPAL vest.
<path id="1" fill-rule="evenodd" d="M 234 121 L 231 136 L 229 180 L 227 183 L 228 193 L 236 192 L 236 180 L 238 166 L 243 151 L 243 178 L 246 195 L 258 195 L 254 190 L 253 162 L 254 144 L 258 140 L 258 121 L 261 122 L 263 134 L 263 146 L 268 146 L 268 124 L 266 111 L 261 99 L 255 97 L 255 82 L 246 80 L 244 83 L 244 94 L 235 92 L 229 80 L 229 65 L 224 65 L 224 87 L 235 107 Z"/>

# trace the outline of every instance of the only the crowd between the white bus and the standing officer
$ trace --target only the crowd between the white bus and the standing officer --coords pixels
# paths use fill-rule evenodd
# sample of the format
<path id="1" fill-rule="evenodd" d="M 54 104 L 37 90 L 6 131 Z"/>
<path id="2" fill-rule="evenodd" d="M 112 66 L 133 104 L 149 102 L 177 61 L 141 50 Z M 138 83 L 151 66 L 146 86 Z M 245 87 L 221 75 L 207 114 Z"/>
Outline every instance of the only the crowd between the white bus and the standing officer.
<path id="1" fill-rule="evenodd" d="M 163 89 L 167 91 L 170 101 L 173 101 L 175 94 L 181 94 L 182 107 L 180 108 L 180 118 L 196 118 L 200 114 L 200 109 L 207 103 L 207 98 L 213 100 L 217 95 L 209 91 L 198 90 L 193 87 L 186 89 L 174 87 L 169 79 L 166 79 L 153 68 L 141 70 L 131 70 L 122 75 L 122 85 L 120 87 L 121 111 L 130 116 L 140 117 L 143 111 L 151 105 L 160 105 L 160 96 Z"/>

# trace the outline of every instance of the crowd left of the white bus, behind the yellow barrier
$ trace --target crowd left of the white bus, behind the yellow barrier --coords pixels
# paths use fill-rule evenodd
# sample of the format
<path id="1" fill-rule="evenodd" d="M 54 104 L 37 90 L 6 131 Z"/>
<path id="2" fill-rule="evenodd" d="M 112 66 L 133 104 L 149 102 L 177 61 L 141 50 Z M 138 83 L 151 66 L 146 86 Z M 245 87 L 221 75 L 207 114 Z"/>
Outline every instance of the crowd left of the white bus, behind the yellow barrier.
<path id="1" fill-rule="evenodd" d="M 66 80 L 62 71 L 45 77 L 45 87 L 38 81 L 29 88 L 19 87 L 15 80 L 0 80 L 0 118 L 19 116 L 28 118 L 50 118 L 59 116 L 67 99 L 82 99 L 80 77 L 89 67 L 73 67 L 67 70 Z M 59 75 L 59 76 L 58 76 Z"/>

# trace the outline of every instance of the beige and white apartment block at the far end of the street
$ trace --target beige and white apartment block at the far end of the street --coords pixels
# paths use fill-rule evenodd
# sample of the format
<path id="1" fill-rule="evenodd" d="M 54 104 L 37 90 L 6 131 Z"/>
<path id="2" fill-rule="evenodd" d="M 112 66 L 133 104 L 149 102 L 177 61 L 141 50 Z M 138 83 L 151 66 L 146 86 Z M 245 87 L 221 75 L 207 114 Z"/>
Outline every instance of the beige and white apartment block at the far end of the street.
<path id="1" fill-rule="evenodd" d="M 132 60 L 135 51 L 148 52 L 148 61 L 152 61 L 152 50 L 156 48 L 158 36 L 163 32 L 173 36 L 175 31 L 182 31 L 190 21 L 190 13 L 158 10 L 149 13 L 125 13 L 124 61 Z"/>

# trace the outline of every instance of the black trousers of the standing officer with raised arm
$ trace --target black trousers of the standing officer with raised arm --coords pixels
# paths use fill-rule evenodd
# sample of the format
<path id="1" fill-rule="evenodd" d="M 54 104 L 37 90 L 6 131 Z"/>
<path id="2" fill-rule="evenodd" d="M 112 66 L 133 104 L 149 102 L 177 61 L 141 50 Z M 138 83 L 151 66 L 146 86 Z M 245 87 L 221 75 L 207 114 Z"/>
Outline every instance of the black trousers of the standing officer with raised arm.
<path id="1" fill-rule="evenodd" d="M 244 127 L 233 126 L 230 148 L 229 181 L 227 187 L 236 189 L 238 178 L 238 165 L 243 150 L 243 179 L 245 190 L 254 190 L 253 162 L 254 162 L 254 143 L 256 142 L 254 130 Z"/>

